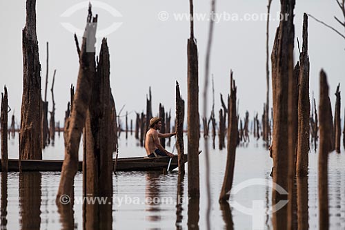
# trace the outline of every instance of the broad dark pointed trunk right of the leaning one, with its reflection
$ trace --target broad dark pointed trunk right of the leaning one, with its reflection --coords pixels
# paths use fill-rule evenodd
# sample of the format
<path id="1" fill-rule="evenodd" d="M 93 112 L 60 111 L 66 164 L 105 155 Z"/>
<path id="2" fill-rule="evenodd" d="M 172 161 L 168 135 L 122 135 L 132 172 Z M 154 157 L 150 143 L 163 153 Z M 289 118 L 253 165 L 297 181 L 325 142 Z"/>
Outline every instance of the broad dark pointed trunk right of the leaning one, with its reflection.
<path id="1" fill-rule="evenodd" d="M 86 153 L 83 160 L 83 194 L 90 197 L 112 195 L 112 140 L 110 140 L 110 61 L 106 39 L 95 72 L 92 100 L 88 106 L 85 124 Z M 84 147 L 85 148 L 85 147 Z M 86 229 L 98 229 L 109 219 L 109 213 L 101 213 L 99 204 L 83 204 Z M 104 205 L 103 205 L 104 206 Z M 110 213 L 111 218 L 111 213 Z"/>

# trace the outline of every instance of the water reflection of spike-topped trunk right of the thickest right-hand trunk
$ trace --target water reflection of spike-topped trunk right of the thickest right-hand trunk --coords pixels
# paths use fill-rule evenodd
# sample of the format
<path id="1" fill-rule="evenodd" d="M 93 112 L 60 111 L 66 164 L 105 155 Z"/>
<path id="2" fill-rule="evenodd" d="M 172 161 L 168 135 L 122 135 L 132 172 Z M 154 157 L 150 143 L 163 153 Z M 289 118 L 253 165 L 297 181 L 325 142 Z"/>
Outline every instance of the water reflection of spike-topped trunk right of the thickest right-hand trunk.
<path id="1" fill-rule="evenodd" d="M 297 178 L 298 229 L 309 229 L 308 224 L 308 176 Z"/>

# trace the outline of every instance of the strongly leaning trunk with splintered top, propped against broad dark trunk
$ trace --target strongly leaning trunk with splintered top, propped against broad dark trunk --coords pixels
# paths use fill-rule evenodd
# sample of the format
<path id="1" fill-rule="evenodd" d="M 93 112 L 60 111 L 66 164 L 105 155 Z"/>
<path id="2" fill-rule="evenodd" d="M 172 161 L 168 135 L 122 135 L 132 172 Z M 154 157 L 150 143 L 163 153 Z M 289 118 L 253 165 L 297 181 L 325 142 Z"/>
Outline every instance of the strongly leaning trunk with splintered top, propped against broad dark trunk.
<path id="1" fill-rule="evenodd" d="M 86 121 L 86 112 L 91 98 L 91 93 L 95 78 L 95 34 L 97 16 L 92 18 L 91 8 L 89 8 L 86 30 L 83 36 L 81 52 L 79 58 L 79 73 L 77 90 L 72 102 L 71 116 L 67 119 L 65 135 L 65 160 L 61 169 L 61 180 L 57 193 L 57 205 L 61 206 L 59 198 L 61 195 L 72 195 L 72 185 L 75 174 L 78 170 L 78 151 L 81 132 Z"/>

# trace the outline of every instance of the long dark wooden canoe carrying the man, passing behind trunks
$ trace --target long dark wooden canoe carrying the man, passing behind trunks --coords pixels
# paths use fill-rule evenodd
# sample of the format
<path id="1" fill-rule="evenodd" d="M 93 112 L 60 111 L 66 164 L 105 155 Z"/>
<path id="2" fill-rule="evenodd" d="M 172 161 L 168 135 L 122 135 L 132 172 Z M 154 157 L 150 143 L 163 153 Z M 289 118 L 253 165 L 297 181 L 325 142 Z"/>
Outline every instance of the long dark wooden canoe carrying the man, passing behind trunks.
<path id="1" fill-rule="evenodd" d="M 201 151 L 199 151 L 200 153 Z M 179 166 L 177 155 L 172 157 L 170 171 Z M 170 157 L 128 157 L 117 159 L 116 171 L 163 171 L 168 168 Z M 188 160 L 184 155 L 184 162 Z M 114 160 L 115 162 L 115 160 Z M 21 160 L 22 171 L 61 171 L 63 160 Z M 79 171 L 83 162 L 79 162 Z M 1 164 L 0 164 L 1 169 Z M 19 171 L 17 159 L 8 160 L 8 171 Z"/>

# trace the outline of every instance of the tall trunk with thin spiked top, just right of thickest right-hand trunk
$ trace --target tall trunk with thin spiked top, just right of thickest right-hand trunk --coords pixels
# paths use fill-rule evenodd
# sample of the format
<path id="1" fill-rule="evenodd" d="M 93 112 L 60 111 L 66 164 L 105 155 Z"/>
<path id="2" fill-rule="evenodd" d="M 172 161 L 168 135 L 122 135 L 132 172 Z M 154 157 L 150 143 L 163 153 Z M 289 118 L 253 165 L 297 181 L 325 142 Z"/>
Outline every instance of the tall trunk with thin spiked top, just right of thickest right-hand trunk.
<path id="1" fill-rule="evenodd" d="M 299 93 L 298 93 L 298 144 L 297 144 L 297 175 L 308 174 L 309 153 L 309 117 L 311 102 L 309 99 L 309 57 L 308 57 L 308 16 L 304 13 L 303 46 L 299 54 Z"/>

